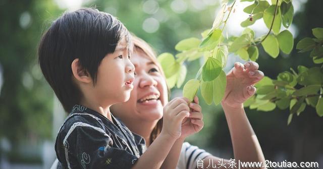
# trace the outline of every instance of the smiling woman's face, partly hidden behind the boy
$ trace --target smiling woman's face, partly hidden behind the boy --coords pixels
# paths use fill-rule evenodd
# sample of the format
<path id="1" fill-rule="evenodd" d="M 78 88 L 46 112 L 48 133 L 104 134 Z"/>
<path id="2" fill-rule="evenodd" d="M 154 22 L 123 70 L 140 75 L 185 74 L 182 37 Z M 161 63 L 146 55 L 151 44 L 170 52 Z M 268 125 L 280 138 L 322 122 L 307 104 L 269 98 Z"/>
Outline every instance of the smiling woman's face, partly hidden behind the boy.
<path id="1" fill-rule="evenodd" d="M 135 66 L 134 88 L 130 99 L 114 104 L 112 112 L 125 123 L 159 120 L 168 102 L 166 79 L 141 49 L 137 49 L 130 60 Z"/>

